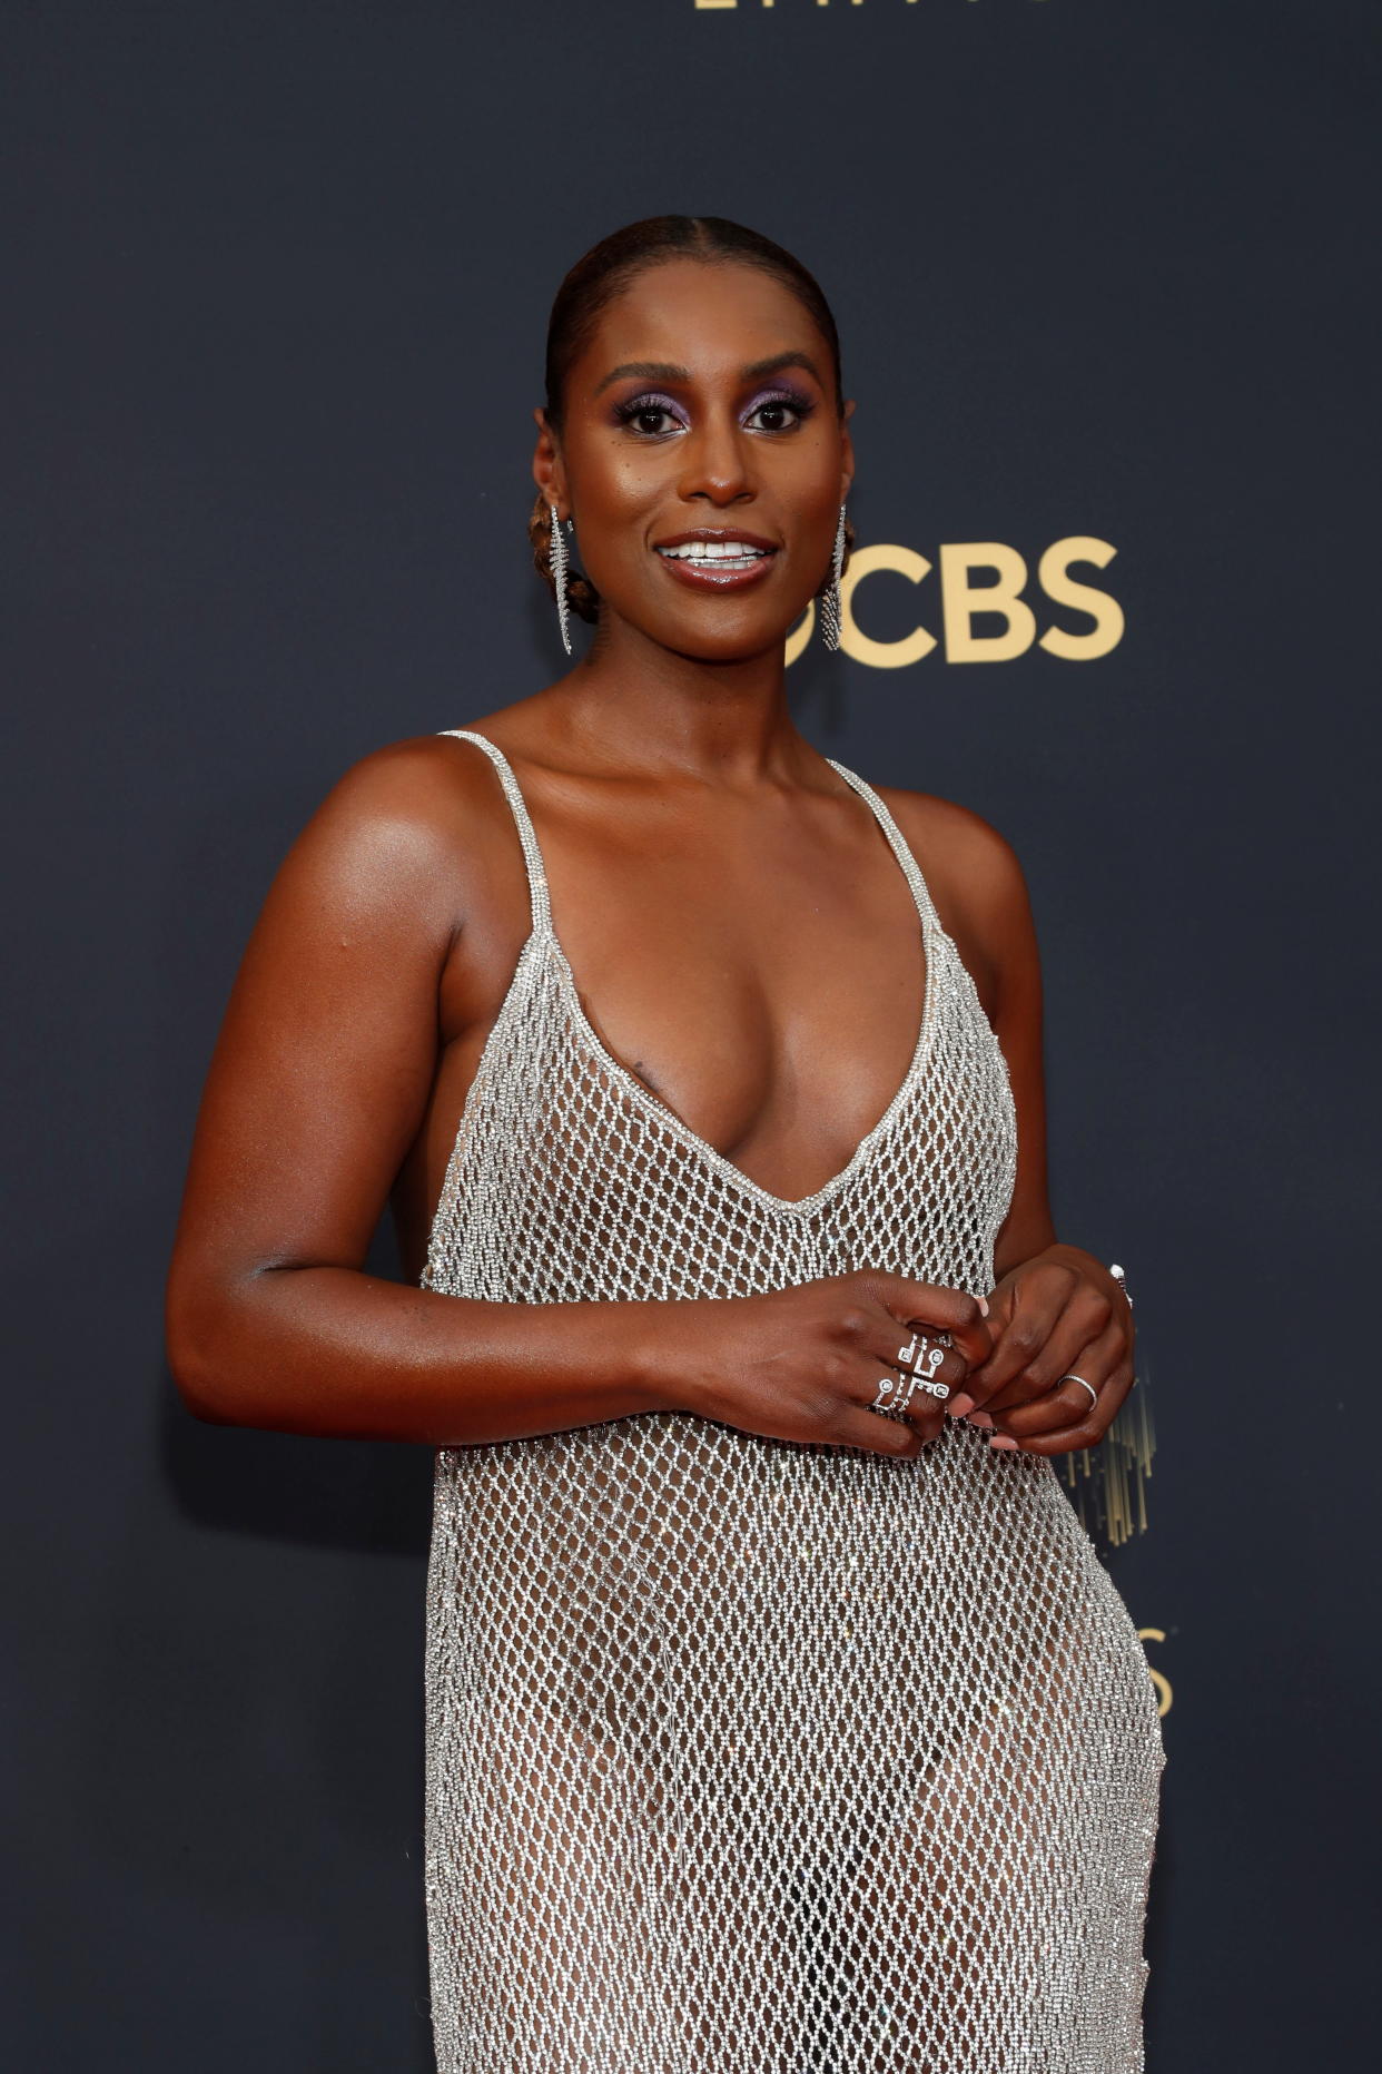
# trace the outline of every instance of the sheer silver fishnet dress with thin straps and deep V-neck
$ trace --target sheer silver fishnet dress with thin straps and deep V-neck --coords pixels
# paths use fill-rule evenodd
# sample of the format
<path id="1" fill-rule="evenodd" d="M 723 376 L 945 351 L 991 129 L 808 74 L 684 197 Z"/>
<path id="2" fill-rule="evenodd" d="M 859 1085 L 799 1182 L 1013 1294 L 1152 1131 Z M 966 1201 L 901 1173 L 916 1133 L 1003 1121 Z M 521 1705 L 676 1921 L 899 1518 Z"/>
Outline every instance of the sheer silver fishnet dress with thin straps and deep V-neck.
<path id="1" fill-rule="evenodd" d="M 1003 1054 L 879 796 L 926 956 L 850 1166 L 758 1188 L 601 1045 L 532 933 L 423 1286 L 731 1298 L 856 1267 L 976 1294 Z M 901 1344 L 901 1342 L 899 1342 Z M 1133 2074 L 1162 1767 L 1127 1609 L 1050 1462 L 682 1412 L 435 1460 L 427 1918 L 439 2074 Z"/>

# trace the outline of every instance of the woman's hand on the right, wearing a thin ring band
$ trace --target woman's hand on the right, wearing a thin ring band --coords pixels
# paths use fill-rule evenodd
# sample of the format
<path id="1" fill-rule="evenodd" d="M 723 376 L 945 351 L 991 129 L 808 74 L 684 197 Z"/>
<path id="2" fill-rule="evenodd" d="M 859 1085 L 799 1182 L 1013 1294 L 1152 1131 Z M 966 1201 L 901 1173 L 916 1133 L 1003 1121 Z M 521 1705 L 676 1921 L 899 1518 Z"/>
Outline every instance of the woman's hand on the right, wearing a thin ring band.
<path id="1" fill-rule="evenodd" d="M 1117 1276 L 1079 1246 L 1048 1246 L 988 1296 L 992 1354 L 970 1369 L 957 1417 L 992 1423 L 995 1448 L 1094 1448 L 1133 1385 L 1133 1313 Z M 1075 1381 L 1082 1375 L 1090 1390 Z"/>

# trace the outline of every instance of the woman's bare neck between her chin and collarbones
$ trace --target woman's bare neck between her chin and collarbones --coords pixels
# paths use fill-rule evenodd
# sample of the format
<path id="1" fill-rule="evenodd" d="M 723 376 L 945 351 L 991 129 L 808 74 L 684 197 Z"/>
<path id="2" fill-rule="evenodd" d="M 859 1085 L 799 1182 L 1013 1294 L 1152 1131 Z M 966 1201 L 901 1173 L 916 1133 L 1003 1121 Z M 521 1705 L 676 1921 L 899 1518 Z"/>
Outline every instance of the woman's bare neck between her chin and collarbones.
<path id="1" fill-rule="evenodd" d="M 818 763 L 791 720 L 779 645 L 702 662 L 615 622 L 547 697 L 591 763 L 719 786 L 800 782 Z"/>

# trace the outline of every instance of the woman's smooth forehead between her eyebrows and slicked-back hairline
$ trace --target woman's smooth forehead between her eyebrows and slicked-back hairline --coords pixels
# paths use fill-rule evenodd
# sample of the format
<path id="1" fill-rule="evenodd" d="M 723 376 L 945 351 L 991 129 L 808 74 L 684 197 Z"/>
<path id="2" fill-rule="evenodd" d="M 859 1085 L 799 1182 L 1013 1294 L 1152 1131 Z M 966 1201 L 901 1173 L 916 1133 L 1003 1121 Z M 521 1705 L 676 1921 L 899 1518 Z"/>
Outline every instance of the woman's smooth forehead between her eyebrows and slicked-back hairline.
<path id="1" fill-rule="evenodd" d="M 808 353 L 829 386 L 829 342 L 791 288 L 736 261 L 667 259 L 607 303 L 572 380 L 588 392 L 622 361 L 675 361 L 698 380 L 731 377 L 777 353 Z"/>

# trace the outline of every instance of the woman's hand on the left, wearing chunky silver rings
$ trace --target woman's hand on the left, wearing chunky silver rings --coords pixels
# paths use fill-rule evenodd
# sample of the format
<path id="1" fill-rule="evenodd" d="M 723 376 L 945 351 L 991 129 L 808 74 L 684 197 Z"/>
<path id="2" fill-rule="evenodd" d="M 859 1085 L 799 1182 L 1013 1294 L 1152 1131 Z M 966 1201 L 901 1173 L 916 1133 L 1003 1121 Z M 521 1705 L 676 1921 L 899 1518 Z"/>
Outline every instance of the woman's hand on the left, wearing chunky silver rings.
<path id="1" fill-rule="evenodd" d="M 661 1309 L 661 1307 L 659 1307 Z M 992 1350 L 982 1300 L 932 1282 L 862 1269 L 767 1296 L 673 1302 L 653 1352 L 653 1394 L 678 1410 L 773 1439 L 835 1441 L 874 1454 L 920 1454 L 945 1419 L 945 1400 L 920 1385 L 905 1419 L 870 1404 L 879 1381 L 903 1371 L 916 1332 L 947 1332 L 934 1379 L 951 1396 Z"/>

